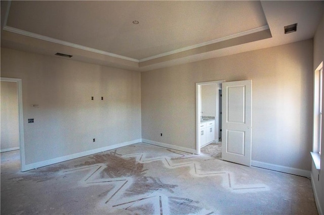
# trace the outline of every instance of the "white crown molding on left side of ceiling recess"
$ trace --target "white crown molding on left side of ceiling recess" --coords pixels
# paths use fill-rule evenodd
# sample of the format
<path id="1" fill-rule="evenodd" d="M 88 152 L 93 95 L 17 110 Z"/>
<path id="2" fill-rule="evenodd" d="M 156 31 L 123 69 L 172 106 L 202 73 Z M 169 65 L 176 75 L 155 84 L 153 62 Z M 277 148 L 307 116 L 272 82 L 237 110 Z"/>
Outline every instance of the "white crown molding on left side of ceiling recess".
<path id="1" fill-rule="evenodd" d="M 55 38 L 52 38 L 52 37 L 43 36 L 43 35 L 40 35 L 40 34 L 35 34 L 35 33 L 32 33 L 32 32 L 29 32 L 29 31 L 24 31 L 24 30 L 21 30 L 21 29 L 18 29 L 18 28 L 10 27 L 10 26 L 4 26 L 4 30 L 5 31 L 10 31 L 10 32 L 13 32 L 13 33 L 17 33 L 17 34 L 21 34 L 21 35 L 24 35 L 24 36 L 33 37 L 33 38 L 36 38 L 36 39 L 45 40 L 45 41 L 48 41 L 48 42 L 54 42 L 54 43 L 57 43 L 57 44 L 66 45 L 66 46 L 70 46 L 70 47 L 73 47 L 73 48 L 78 48 L 78 49 L 82 49 L 82 50 L 86 50 L 86 51 L 99 53 L 101 55 L 106 55 L 106 56 L 110 56 L 110 57 L 114 57 L 114 58 L 119 58 L 119 59 L 139 63 L 139 61 L 137 59 L 134 59 L 134 58 L 129 58 L 129 57 L 117 55 L 115 53 L 102 51 L 102 50 L 99 50 L 99 49 L 90 48 L 90 47 L 83 46 L 83 45 L 78 45 L 78 44 L 75 44 L 75 43 L 72 43 L 72 42 L 67 42 L 67 41 L 55 39 Z"/>

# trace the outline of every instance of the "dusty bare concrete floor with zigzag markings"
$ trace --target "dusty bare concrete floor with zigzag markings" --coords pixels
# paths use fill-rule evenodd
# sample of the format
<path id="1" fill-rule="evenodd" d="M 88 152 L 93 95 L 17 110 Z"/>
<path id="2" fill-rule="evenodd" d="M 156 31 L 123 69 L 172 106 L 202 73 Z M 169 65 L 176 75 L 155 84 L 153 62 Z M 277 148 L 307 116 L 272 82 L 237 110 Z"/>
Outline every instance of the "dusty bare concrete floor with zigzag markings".
<path id="1" fill-rule="evenodd" d="M 1 214 L 317 214 L 310 179 L 208 151 L 138 143 L 24 173 L 1 153 Z"/>

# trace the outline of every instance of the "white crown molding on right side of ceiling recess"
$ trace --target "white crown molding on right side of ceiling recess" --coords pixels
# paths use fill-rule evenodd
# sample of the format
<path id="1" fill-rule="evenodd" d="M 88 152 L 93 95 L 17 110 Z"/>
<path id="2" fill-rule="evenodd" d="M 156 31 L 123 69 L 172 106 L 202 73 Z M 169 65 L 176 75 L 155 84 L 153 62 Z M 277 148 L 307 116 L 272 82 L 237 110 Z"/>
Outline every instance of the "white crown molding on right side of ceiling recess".
<path id="1" fill-rule="evenodd" d="M 222 41 L 225 41 L 225 40 L 237 38 L 237 37 L 240 37 L 240 36 L 246 36 L 246 35 L 257 33 L 257 32 L 260 32 L 260 31 L 267 30 L 267 29 L 269 29 L 268 25 L 261 26 L 261 27 L 258 27 L 258 28 L 254 28 L 254 29 L 251 29 L 251 30 L 247 30 L 247 31 L 232 34 L 232 35 L 229 35 L 229 36 L 221 37 L 221 38 L 218 38 L 218 39 L 209 40 L 207 42 L 202 42 L 202 43 L 199 43 L 199 44 L 190 45 L 190 46 L 179 48 L 179 49 L 176 49 L 176 50 L 164 52 L 164 53 L 161 53 L 159 55 L 151 56 L 151 57 L 148 57 L 148 58 L 143 58 L 143 59 L 139 60 L 139 63 L 149 61 L 149 60 L 153 60 L 153 59 L 156 59 L 156 58 L 165 57 L 165 56 L 168 56 L 168 55 L 173 55 L 173 54 L 179 53 L 181 51 L 186 51 L 186 50 L 190 50 L 190 49 L 193 49 L 193 48 L 199 48 L 199 47 L 202 47 L 202 46 L 205 46 L 205 45 L 210 45 L 210 44 L 213 44 L 213 43 L 222 42 Z"/>

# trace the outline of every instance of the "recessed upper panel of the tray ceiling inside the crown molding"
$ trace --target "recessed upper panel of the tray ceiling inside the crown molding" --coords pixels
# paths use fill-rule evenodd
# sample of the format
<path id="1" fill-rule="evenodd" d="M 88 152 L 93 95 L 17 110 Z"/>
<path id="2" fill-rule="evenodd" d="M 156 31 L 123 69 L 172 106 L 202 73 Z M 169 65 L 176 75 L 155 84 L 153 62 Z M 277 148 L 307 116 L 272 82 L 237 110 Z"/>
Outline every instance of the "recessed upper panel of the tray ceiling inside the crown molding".
<path id="1" fill-rule="evenodd" d="M 259 1 L 12 1 L 7 25 L 140 60 L 267 21 Z"/>

